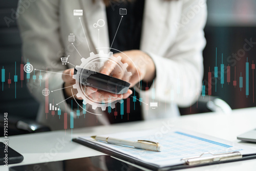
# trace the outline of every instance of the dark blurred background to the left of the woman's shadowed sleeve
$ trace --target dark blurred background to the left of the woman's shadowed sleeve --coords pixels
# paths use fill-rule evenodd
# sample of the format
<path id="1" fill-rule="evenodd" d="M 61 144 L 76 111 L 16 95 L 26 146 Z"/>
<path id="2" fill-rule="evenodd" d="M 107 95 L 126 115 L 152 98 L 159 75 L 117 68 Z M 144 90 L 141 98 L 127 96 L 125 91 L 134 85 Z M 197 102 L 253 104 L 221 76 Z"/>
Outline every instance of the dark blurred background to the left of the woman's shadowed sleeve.
<path id="1" fill-rule="evenodd" d="M 34 119 L 39 104 L 32 98 L 25 80 L 20 80 L 20 63 L 22 63 L 22 41 L 17 28 L 15 11 L 18 0 L 0 1 L 0 69 L 5 69 L 6 81 L 0 85 L 0 115 L 8 113 L 9 117 L 19 116 Z M 16 62 L 17 82 L 14 82 Z M 24 62 L 23 62 L 24 63 Z M 26 73 L 25 73 L 26 74 Z M 7 79 L 11 79 L 10 86 Z M 16 89 L 16 98 L 15 98 Z"/>

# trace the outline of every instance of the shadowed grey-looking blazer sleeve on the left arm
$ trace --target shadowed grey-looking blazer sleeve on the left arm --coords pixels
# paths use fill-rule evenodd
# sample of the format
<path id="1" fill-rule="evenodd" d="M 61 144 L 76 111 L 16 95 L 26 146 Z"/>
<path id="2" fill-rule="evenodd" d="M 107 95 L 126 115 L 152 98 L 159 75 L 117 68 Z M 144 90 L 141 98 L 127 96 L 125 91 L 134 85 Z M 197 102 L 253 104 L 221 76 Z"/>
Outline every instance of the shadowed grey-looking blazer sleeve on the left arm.
<path id="1" fill-rule="evenodd" d="M 19 5 L 26 2 L 20 0 Z M 27 83 L 30 92 L 41 104 L 45 103 L 42 90 L 46 87 L 46 79 L 49 79 L 49 102 L 52 103 L 54 99 L 54 104 L 56 104 L 64 100 L 62 91 L 51 92 L 61 89 L 63 84 L 61 74 L 51 72 L 62 73 L 63 70 L 67 69 L 60 62 L 60 57 L 63 54 L 61 54 L 58 8 L 59 0 L 32 1 L 18 18 L 18 26 L 23 41 L 24 61 L 29 61 L 34 69 L 44 70 L 35 71 L 36 81 L 29 79 Z M 46 73 L 46 70 L 49 72 Z M 42 75 L 41 80 L 39 80 L 39 75 Z M 64 108 L 65 102 L 61 105 Z"/>

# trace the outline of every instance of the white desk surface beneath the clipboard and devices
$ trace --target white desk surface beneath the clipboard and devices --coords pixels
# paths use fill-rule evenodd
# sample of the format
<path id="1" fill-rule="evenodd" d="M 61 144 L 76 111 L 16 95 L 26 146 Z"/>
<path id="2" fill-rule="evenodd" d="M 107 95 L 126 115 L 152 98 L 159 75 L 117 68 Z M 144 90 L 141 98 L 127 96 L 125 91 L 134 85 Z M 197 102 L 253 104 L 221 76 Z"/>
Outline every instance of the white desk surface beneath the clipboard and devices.
<path id="1" fill-rule="evenodd" d="M 256 143 L 244 143 L 237 140 L 237 135 L 255 129 L 256 108 L 234 110 L 232 114 L 206 113 L 181 116 L 175 119 L 159 119 L 151 121 L 139 121 L 133 123 L 122 123 L 111 126 L 88 127 L 85 129 L 54 131 L 48 133 L 37 133 L 9 137 L 9 146 L 24 156 L 24 161 L 19 164 L 33 164 L 48 161 L 58 161 L 72 158 L 104 155 L 94 149 L 71 142 L 77 136 L 91 136 L 97 134 L 124 132 L 149 129 L 153 127 L 176 126 L 198 133 L 208 134 L 232 142 L 239 142 L 256 148 Z M 166 127 L 167 126 L 167 127 Z M 3 137 L 0 138 L 3 141 Z M 246 160 L 231 162 L 184 170 L 255 170 L 256 160 Z M 0 170 L 9 170 L 5 166 L 0 166 Z"/>

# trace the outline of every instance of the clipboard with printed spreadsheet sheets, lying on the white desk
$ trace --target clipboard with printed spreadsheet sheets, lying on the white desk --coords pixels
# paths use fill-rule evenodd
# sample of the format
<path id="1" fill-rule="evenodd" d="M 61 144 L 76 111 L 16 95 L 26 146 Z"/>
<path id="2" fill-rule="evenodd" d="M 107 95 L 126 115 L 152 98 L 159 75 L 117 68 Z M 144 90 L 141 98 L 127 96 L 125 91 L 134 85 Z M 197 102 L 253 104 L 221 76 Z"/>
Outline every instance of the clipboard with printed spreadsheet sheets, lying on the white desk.
<path id="1" fill-rule="evenodd" d="M 245 156 L 256 157 L 255 148 L 180 129 L 173 129 L 167 133 L 146 130 L 102 136 L 132 141 L 154 141 L 160 143 L 163 150 L 161 152 L 148 151 L 96 141 L 91 137 L 78 137 L 73 141 L 154 170 L 166 170 L 173 166 L 183 168 L 184 165 L 186 168 L 188 165 L 203 165 L 229 159 L 243 160 Z"/>

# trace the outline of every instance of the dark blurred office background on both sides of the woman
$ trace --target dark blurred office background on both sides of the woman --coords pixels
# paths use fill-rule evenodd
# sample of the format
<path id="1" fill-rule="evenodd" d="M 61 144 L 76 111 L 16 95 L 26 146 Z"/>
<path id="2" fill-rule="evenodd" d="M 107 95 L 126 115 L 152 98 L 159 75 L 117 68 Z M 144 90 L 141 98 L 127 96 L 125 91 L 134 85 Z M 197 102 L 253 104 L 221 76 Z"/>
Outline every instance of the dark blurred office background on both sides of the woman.
<path id="1" fill-rule="evenodd" d="M 255 0 L 209 0 L 208 5 L 208 21 L 205 27 L 205 37 L 207 39 L 207 45 L 203 52 L 204 56 L 204 80 L 208 80 L 208 71 L 214 71 L 216 65 L 216 48 L 217 53 L 217 65 L 220 69 L 221 55 L 223 53 L 223 63 L 225 66 L 228 63 L 228 56 L 232 53 L 237 53 L 240 49 L 243 49 L 245 39 L 252 39 L 256 41 L 256 1 Z M 13 78 L 15 71 L 15 61 L 17 75 L 19 78 L 19 65 L 22 61 L 21 52 L 21 40 L 19 31 L 17 28 L 16 20 L 13 19 L 14 11 L 17 8 L 17 0 L 12 1 L 0 1 L 0 55 L 1 69 L 6 69 L 6 76 Z M 4 17 L 13 19 L 8 27 Z M 220 80 L 217 81 L 217 92 L 215 92 L 215 86 L 212 88 L 212 95 L 219 96 L 225 100 L 232 109 L 248 108 L 255 106 L 252 99 L 252 70 L 251 61 L 256 63 L 256 45 L 246 52 L 241 60 L 236 63 L 236 80 L 238 85 L 236 88 L 232 86 L 234 80 L 234 67 L 231 66 L 231 82 L 229 85 L 226 82 L 223 88 L 221 87 Z M 245 62 L 248 57 L 249 61 L 249 96 L 245 95 L 245 88 L 241 91 L 239 89 L 239 77 L 242 72 L 243 86 L 245 87 Z M 254 73 L 256 74 L 256 73 Z M 214 76 L 214 75 L 212 75 Z M 25 77 L 26 78 L 26 77 Z M 255 76 L 254 76 L 255 79 Z M 26 80 L 23 81 L 23 88 L 21 87 L 21 81 L 16 83 L 16 99 L 15 99 L 15 84 L 12 79 L 10 88 L 7 81 L 4 83 L 4 91 L 2 91 L 2 82 L 0 86 L 0 113 L 8 112 L 11 115 L 24 116 L 29 118 L 35 118 L 38 103 L 32 98 L 28 88 L 25 86 Z M 254 86 L 254 88 L 256 88 Z M 206 91 L 207 94 L 207 91 Z M 256 100 L 256 99 L 255 99 Z M 190 108 L 183 109 L 182 114 L 195 113 L 193 110 L 190 112 Z"/>

